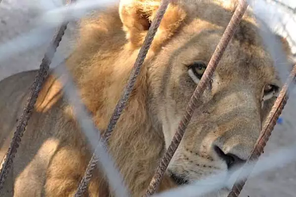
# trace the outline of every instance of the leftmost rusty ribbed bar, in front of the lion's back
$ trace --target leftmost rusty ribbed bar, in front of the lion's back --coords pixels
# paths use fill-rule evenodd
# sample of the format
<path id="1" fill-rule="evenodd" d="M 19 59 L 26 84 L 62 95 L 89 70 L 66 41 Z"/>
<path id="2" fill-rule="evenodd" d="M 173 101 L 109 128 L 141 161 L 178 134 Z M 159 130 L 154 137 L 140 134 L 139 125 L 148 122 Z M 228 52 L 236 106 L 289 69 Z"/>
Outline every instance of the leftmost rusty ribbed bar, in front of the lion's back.
<path id="1" fill-rule="evenodd" d="M 68 0 L 68 3 L 70 3 L 71 0 Z M 68 22 L 61 25 L 61 27 L 58 29 L 58 31 L 55 33 L 54 39 L 52 39 L 49 47 L 47 48 L 46 53 L 44 54 L 44 57 L 41 61 L 41 64 L 39 66 L 39 70 L 37 73 L 37 76 L 34 80 L 34 83 L 31 86 L 29 97 L 27 98 L 27 102 L 24 106 L 24 111 L 20 118 L 18 118 L 18 122 L 16 125 L 16 129 L 14 131 L 12 140 L 10 142 L 9 148 L 4 156 L 4 162 L 2 164 L 1 170 L 0 170 L 0 192 L 3 189 L 5 178 L 7 177 L 7 174 L 12 166 L 13 159 L 15 158 L 15 155 L 17 153 L 17 148 L 19 147 L 19 143 L 21 142 L 21 138 L 26 130 L 26 127 L 28 125 L 29 119 L 31 118 L 32 112 L 34 110 L 34 105 L 37 101 L 38 93 L 42 87 L 42 84 L 47 76 L 47 72 L 49 69 L 49 65 L 51 64 L 52 58 L 54 56 L 54 53 L 56 52 L 62 37 L 65 34 L 65 31 L 67 29 Z"/>

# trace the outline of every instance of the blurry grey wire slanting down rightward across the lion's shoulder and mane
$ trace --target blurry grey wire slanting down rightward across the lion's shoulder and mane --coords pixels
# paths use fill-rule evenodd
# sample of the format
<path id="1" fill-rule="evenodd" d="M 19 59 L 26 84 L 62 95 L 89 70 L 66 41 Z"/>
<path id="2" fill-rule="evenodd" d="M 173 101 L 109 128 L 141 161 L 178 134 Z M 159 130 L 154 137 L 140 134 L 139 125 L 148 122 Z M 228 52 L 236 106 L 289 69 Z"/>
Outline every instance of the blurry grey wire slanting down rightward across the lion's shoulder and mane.
<path id="1" fill-rule="evenodd" d="M 58 61 L 59 59 L 62 61 Z M 57 79 L 61 82 L 63 86 L 63 96 L 73 107 L 74 117 L 77 120 L 79 127 L 87 137 L 92 150 L 97 148 L 95 154 L 98 158 L 98 163 L 100 164 L 102 171 L 106 175 L 106 180 L 114 191 L 115 196 L 129 197 L 128 188 L 123 184 L 123 177 L 121 176 L 119 170 L 116 169 L 113 158 L 111 158 L 111 155 L 108 154 L 105 146 L 100 140 L 101 132 L 92 121 L 89 111 L 79 97 L 79 90 L 75 87 L 74 80 L 65 67 L 66 59 L 59 57 L 59 53 L 56 53 L 55 60 L 55 62 L 52 62 L 53 66 L 55 66 L 53 74 L 56 75 Z"/>

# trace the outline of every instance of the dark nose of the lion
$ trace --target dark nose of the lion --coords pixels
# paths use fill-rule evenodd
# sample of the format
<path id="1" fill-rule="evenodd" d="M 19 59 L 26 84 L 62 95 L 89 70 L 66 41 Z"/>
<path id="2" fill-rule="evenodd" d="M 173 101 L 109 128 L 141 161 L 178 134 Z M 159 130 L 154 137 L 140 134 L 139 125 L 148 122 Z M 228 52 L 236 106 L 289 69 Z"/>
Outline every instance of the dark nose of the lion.
<path id="1" fill-rule="evenodd" d="M 214 151 L 220 158 L 222 158 L 226 162 L 228 170 L 233 167 L 242 165 L 246 162 L 246 160 L 243 160 L 236 155 L 229 153 L 225 154 L 218 146 L 214 146 Z"/>

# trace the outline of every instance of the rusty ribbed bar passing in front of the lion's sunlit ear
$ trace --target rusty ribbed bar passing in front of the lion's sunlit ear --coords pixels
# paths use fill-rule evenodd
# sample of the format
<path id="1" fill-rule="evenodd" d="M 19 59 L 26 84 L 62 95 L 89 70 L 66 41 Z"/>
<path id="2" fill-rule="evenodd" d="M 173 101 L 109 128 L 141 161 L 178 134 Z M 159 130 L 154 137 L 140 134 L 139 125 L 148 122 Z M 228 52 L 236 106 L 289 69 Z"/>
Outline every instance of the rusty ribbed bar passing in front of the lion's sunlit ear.
<path id="1" fill-rule="evenodd" d="M 139 54 L 137 56 L 136 62 L 134 64 L 133 70 L 131 72 L 130 78 L 128 80 L 128 83 L 125 87 L 125 90 L 123 94 L 121 95 L 119 101 L 116 104 L 116 107 L 113 111 L 113 114 L 110 118 L 110 121 L 108 123 L 107 129 L 104 132 L 103 136 L 103 144 L 105 148 L 107 149 L 107 143 L 111 136 L 111 133 L 117 123 L 117 120 L 119 119 L 123 109 L 125 108 L 125 105 L 130 97 L 130 94 L 133 90 L 133 87 L 135 85 L 136 79 L 138 75 L 140 74 L 142 65 L 145 61 L 145 58 L 147 56 L 148 50 L 150 48 L 150 45 L 152 43 L 152 40 L 156 34 L 156 31 L 160 25 L 160 22 L 163 18 L 163 15 L 168 7 L 170 0 L 162 0 L 159 9 L 157 10 L 155 19 L 152 21 L 151 26 L 149 27 L 148 34 L 144 40 L 144 43 L 139 51 Z M 96 151 L 95 151 L 96 152 Z M 75 197 L 82 197 L 82 195 L 87 190 L 87 186 L 89 184 L 89 181 L 92 177 L 93 170 L 96 168 L 96 163 L 98 159 L 96 158 L 96 154 L 94 153 L 90 159 L 90 162 L 88 163 L 88 166 L 86 168 L 86 171 L 84 173 L 83 178 L 81 179 L 78 189 L 75 193 Z"/>

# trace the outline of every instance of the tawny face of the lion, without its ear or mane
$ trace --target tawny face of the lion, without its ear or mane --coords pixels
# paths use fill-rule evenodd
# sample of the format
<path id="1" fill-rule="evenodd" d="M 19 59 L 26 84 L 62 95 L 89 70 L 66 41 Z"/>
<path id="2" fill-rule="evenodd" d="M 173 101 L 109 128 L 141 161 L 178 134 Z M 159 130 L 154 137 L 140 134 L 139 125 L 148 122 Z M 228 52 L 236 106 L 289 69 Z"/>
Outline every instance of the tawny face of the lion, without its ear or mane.
<path id="1" fill-rule="evenodd" d="M 153 62 L 151 73 L 163 73 L 157 85 L 151 84 L 151 105 L 158 109 L 166 147 L 222 33 L 205 29 L 169 43 L 161 51 L 165 59 Z M 180 184 L 244 163 L 259 137 L 282 83 L 266 52 L 244 44 L 233 40 L 227 47 L 169 165 Z"/>

